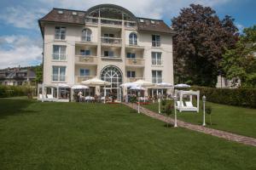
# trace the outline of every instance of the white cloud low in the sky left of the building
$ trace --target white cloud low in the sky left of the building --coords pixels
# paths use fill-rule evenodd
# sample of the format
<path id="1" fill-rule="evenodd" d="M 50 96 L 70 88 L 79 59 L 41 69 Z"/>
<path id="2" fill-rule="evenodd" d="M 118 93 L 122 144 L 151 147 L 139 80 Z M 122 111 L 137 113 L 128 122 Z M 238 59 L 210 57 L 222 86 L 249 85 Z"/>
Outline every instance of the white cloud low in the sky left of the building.
<path id="1" fill-rule="evenodd" d="M 42 62 L 42 48 L 29 37 L 4 36 L 0 37 L 0 44 L 1 69 Z"/>

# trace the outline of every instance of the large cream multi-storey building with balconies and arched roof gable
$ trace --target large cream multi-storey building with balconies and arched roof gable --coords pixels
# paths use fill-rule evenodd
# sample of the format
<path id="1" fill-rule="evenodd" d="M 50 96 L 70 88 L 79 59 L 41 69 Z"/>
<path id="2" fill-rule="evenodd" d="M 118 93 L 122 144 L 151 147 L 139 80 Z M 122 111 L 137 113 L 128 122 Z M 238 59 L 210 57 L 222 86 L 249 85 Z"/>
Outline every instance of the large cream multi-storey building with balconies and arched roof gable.
<path id="1" fill-rule="evenodd" d="M 44 84 L 73 85 L 98 77 L 111 82 L 109 91 L 123 95 L 119 85 L 124 82 L 173 84 L 173 31 L 163 20 L 101 4 L 87 11 L 53 8 L 38 23 L 44 38 Z"/>

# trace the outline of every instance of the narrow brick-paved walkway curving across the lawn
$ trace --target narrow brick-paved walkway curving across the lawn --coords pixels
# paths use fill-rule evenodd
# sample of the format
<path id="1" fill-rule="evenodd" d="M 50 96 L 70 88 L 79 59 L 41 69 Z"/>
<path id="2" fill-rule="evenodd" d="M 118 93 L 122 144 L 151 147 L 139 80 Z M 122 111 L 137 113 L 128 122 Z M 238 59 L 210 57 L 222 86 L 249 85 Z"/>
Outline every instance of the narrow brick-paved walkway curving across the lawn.
<path id="1" fill-rule="evenodd" d="M 123 103 L 123 104 L 137 110 L 137 105 L 126 104 L 126 103 Z M 141 107 L 141 113 L 143 113 L 144 115 L 153 117 L 155 119 L 158 119 L 160 121 L 169 122 L 169 123 L 174 124 L 174 119 L 172 119 L 171 117 L 160 115 L 158 113 L 155 113 L 154 111 L 149 111 L 148 109 L 146 109 L 144 107 Z M 228 139 L 228 140 L 235 141 L 235 142 L 238 142 L 241 144 L 256 146 L 256 139 L 246 137 L 246 136 L 241 136 L 241 135 L 235 134 L 235 133 L 228 133 L 228 132 L 224 132 L 221 130 L 216 130 L 216 129 L 212 129 L 212 128 L 208 128 L 208 127 L 202 127 L 199 125 L 194 125 L 189 122 L 183 122 L 183 121 L 179 121 L 179 120 L 177 120 L 177 127 L 184 127 L 184 128 L 188 128 L 190 130 L 194 130 L 196 132 L 211 134 L 212 136 L 217 136 L 218 138 Z"/>

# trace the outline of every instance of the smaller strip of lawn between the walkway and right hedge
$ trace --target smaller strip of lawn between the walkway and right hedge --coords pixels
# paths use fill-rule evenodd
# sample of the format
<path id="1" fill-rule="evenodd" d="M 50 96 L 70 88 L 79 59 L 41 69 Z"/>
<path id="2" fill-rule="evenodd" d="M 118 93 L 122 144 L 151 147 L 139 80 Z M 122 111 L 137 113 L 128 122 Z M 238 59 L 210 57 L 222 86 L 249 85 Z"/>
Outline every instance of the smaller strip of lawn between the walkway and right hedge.
<path id="1" fill-rule="evenodd" d="M 206 114 L 207 127 L 256 138 L 256 109 L 218 105 L 211 102 L 207 102 L 207 105 L 212 106 L 212 126 L 210 125 L 209 116 Z M 158 112 L 158 103 L 143 106 L 149 110 Z M 173 116 L 174 114 L 172 114 Z M 199 113 L 177 112 L 177 119 L 201 125 L 202 109 L 200 107 Z"/>

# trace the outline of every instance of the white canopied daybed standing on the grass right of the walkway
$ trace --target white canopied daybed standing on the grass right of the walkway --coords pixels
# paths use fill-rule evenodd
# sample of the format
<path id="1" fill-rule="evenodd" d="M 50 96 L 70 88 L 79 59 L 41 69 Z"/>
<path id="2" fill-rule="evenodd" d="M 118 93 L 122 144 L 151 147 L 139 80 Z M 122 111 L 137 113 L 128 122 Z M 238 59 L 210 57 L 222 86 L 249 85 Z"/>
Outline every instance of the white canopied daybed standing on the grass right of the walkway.
<path id="1" fill-rule="evenodd" d="M 185 105 L 183 104 L 183 96 L 189 95 L 189 101 L 185 101 Z M 193 97 L 196 96 L 196 107 L 193 105 Z M 200 91 L 183 91 L 179 90 L 176 91 L 177 101 L 176 101 L 176 108 L 179 112 L 182 111 L 196 111 L 199 112 L 199 101 L 200 101 Z"/>

